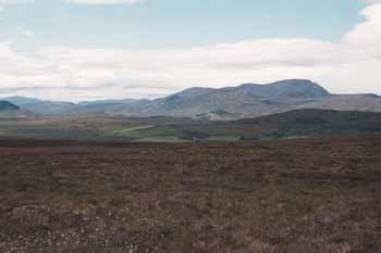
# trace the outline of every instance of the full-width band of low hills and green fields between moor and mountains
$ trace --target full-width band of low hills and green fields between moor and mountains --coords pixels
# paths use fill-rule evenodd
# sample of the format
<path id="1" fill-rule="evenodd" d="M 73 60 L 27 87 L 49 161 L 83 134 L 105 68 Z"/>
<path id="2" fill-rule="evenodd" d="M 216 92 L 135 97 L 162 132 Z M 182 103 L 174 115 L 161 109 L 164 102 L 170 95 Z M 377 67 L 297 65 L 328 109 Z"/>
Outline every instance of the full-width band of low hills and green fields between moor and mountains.
<path id="1" fill-rule="evenodd" d="M 9 112 L 9 111 L 7 111 Z M 13 112 L 13 111 L 12 111 Z M 20 111 L 14 111 L 20 112 Z M 223 112 L 218 112 L 223 114 Z M 381 113 L 296 110 L 229 122 L 180 117 L 34 117 L 0 113 L 0 137 L 73 140 L 258 140 L 321 136 L 381 135 Z"/>

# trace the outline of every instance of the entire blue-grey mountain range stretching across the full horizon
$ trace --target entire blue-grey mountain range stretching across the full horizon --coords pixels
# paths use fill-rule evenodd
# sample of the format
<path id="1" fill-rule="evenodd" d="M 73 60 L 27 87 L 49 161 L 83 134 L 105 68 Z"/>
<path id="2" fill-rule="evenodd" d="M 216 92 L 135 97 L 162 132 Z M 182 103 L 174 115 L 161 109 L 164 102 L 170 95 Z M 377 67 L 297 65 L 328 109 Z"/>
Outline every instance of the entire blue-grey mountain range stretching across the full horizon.
<path id="1" fill-rule="evenodd" d="M 377 94 L 332 94 L 305 79 L 281 80 L 268 85 L 244 84 L 220 89 L 190 88 L 155 100 L 103 100 L 94 102 L 42 101 L 10 97 L 21 110 L 45 115 L 110 114 L 124 116 L 177 116 L 202 119 L 238 119 L 303 109 L 381 112 Z"/>

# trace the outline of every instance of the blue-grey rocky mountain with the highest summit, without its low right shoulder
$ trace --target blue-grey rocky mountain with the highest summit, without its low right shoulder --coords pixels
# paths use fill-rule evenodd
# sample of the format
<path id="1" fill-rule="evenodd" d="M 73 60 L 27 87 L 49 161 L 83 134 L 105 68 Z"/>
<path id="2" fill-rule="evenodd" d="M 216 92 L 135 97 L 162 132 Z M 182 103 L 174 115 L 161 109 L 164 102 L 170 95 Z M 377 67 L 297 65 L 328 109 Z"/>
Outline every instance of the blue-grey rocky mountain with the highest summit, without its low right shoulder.
<path id="1" fill-rule="evenodd" d="M 192 88 L 153 100 L 139 114 L 195 117 L 223 111 L 239 118 L 272 114 L 283 109 L 292 110 L 291 105 L 329 96 L 319 85 L 300 79 L 270 85 L 245 84 L 222 89 Z"/>

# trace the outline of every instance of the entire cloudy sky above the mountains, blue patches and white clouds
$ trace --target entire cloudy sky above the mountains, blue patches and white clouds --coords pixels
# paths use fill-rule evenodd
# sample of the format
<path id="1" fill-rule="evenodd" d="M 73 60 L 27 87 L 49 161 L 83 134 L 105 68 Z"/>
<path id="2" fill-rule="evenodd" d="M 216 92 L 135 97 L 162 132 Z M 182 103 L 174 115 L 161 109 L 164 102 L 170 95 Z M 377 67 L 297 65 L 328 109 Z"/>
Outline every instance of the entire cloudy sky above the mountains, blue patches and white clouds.
<path id="1" fill-rule="evenodd" d="M 0 0 L 0 97 L 312 79 L 381 93 L 379 0 Z"/>

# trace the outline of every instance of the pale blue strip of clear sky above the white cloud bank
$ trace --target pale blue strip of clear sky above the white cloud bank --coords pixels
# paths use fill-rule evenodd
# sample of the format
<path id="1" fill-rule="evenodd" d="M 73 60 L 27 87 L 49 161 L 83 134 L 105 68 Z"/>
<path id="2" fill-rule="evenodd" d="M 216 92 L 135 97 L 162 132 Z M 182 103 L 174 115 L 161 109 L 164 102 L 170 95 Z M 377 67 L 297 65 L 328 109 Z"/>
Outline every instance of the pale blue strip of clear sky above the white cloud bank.
<path id="1" fill-rule="evenodd" d="M 137 4 L 73 4 L 36 0 L 8 5 L 1 39 L 20 50 L 44 45 L 173 48 L 258 38 L 339 40 L 358 23 L 358 0 L 146 0 Z M 36 36 L 25 38 L 21 30 Z"/>

